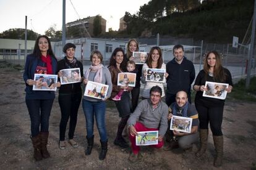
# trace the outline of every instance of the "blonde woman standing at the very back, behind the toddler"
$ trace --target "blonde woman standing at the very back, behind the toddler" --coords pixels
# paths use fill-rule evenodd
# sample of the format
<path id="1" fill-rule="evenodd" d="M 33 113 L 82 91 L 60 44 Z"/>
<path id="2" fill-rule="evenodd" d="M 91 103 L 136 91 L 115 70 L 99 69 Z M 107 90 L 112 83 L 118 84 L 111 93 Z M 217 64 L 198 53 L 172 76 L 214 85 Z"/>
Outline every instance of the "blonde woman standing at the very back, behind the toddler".
<path id="1" fill-rule="evenodd" d="M 126 54 L 124 55 L 124 62 L 127 63 L 129 60 L 134 60 L 132 57 L 132 52 L 139 51 L 139 42 L 136 39 L 130 39 L 127 48 Z M 137 72 L 135 87 L 132 89 L 132 112 L 134 112 L 135 108 L 139 102 L 140 95 L 140 77 L 142 76 L 142 65 L 136 64 L 135 72 Z"/>

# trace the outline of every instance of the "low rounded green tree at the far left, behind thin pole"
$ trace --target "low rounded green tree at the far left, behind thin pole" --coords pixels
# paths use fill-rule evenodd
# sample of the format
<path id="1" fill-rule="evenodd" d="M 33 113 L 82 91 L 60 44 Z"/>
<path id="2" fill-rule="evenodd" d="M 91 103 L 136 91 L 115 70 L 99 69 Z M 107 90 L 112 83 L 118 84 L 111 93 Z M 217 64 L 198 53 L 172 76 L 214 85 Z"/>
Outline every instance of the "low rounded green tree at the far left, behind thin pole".
<path id="1" fill-rule="evenodd" d="M 27 30 L 27 39 L 35 40 L 38 37 L 38 33 L 32 30 Z M 0 33 L 0 38 L 6 39 L 25 39 L 25 29 L 23 28 L 11 28 L 9 30 Z"/>

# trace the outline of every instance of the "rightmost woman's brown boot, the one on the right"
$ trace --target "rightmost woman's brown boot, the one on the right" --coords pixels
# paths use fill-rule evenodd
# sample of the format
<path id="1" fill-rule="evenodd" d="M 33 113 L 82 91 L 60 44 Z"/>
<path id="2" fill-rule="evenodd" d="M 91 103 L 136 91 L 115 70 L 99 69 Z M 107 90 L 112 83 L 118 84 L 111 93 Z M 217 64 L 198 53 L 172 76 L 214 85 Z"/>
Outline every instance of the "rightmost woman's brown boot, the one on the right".
<path id="1" fill-rule="evenodd" d="M 217 153 L 213 166 L 219 167 L 223 159 L 223 136 L 213 136 L 213 142 Z"/>

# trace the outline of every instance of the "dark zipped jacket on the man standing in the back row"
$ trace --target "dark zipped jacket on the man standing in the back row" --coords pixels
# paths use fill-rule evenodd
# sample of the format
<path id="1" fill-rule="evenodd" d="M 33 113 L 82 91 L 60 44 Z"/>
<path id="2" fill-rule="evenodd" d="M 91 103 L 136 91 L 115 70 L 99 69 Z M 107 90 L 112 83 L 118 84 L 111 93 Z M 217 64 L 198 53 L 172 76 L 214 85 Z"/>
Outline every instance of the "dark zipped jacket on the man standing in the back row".
<path id="1" fill-rule="evenodd" d="M 174 58 L 166 64 L 166 72 L 169 74 L 166 79 L 167 93 L 176 94 L 178 91 L 190 91 L 191 84 L 195 79 L 195 67 L 190 60 L 184 57 L 179 64 Z"/>

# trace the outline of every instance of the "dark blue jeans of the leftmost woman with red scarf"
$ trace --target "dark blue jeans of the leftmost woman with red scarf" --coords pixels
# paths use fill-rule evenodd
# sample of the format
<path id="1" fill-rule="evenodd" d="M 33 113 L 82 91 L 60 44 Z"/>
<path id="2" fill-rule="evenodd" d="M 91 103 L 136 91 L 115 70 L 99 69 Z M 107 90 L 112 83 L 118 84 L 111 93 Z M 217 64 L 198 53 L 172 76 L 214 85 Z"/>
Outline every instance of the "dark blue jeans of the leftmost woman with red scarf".
<path id="1" fill-rule="evenodd" d="M 54 99 L 30 100 L 26 99 L 26 105 L 31 121 L 32 137 L 38 136 L 39 132 L 49 131 L 49 116 L 53 107 Z M 41 128 L 40 128 L 41 125 Z"/>

